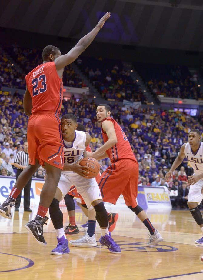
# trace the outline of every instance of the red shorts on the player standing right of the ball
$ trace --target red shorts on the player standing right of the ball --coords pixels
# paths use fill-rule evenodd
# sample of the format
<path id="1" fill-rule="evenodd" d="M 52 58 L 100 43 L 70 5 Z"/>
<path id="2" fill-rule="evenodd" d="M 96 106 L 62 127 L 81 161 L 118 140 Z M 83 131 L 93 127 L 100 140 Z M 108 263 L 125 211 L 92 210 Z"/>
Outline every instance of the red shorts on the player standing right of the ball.
<path id="1" fill-rule="evenodd" d="M 136 207 L 138 195 L 138 162 L 121 159 L 101 174 L 98 182 L 103 201 L 116 204 L 122 194 L 127 206 Z"/>

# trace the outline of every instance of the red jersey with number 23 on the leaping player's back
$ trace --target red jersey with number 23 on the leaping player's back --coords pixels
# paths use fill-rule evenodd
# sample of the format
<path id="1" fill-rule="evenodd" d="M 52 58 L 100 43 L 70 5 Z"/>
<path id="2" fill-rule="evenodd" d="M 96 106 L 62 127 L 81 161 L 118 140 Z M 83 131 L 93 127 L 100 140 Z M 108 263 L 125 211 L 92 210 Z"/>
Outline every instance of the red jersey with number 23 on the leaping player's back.
<path id="1" fill-rule="evenodd" d="M 25 76 L 32 97 L 32 113 L 49 111 L 59 117 L 63 100 L 63 81 L 54 62 L 38 65 Z"/>

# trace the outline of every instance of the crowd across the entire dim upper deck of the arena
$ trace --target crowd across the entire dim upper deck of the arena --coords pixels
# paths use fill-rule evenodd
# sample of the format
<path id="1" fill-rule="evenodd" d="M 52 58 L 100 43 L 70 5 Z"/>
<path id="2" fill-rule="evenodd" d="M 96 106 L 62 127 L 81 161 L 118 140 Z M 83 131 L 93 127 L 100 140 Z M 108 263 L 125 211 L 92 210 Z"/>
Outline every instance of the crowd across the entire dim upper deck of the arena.
<path id="1" fill-rule="evenodd" d="M 30 50 L 18 45 L 0 49 L 0 83 L 3 86 L 24 89 L 25 75 L 41 63 L 42 52 L 36 49 Z M 144 92 L 137 82 L 132 80 L 130 72 L 124 69 L 121 61 L 79 57 L 77 65 L 98 89 L 102 98 L 147 103 Z M 135 68 L 147 82 L 155 98 L 161 94 L 167 97 L 203 99 L 198 74 L 191 75 L 186 66 L 136 63 Z M 70 65 L 65 68 L 63 82 L 71 87 L 87 86 Z"/>

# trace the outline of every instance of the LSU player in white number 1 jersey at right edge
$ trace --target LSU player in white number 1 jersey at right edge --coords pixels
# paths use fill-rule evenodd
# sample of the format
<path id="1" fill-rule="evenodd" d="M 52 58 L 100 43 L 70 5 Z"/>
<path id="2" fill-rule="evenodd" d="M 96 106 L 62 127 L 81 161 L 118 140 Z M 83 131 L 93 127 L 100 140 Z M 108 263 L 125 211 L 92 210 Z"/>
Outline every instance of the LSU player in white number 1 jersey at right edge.
<path id="1" fill-rule="evenodd" d="M 181 146 L 180 153 L 173 162 L 171 169 L 166 173 L 165 178 L 168 180 L 173 175 L 173 172 L 185 157 L 191 163 L 194 174 L 188 176 L 188 185 L 190 185 L 188 207 L 195 222 L 203 232 L 203 218 L 198 208 L 198 205 L 203 199 L 203 194 L 201 193 L 201 189 L 203 188 L 203 142 L 200 140 L 200 131 L 198 129 L 192 129 L 188 134 L 188 142 Z M 203 245 L 203 237 L 196 240 L 195 243 Z"/>

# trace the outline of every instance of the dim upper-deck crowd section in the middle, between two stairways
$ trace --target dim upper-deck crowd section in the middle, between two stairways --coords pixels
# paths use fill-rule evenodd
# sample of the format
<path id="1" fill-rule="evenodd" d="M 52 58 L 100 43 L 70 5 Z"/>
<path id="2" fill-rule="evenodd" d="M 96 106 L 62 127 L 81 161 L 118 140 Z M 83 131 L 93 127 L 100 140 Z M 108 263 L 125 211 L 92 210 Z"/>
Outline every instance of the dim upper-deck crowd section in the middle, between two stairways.
<path id="1" fill-rule="evenodd" d="M 106 100 L 124 99 L 132 102 L 147 103 L 146 97 L 133 81 L 129 70 L 125 70 L 121 61 L 103 58 L 82 57 L 77 60 L 78 67 Z"/>

